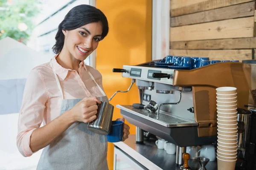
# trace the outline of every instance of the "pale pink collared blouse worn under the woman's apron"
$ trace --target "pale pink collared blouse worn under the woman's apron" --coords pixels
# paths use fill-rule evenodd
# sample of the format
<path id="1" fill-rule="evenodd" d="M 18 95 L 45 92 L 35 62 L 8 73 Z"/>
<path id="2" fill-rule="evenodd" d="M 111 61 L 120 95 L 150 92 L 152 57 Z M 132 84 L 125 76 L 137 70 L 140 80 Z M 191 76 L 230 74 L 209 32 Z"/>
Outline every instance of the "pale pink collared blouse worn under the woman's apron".
<path id="1" fill-rule="evenodd" d="M 29 147 L 32 132 L 39 128 L 42 122 L 43 125 L 46 125 L 60 115 L 62 97 L 53 71 L 60 80 L 64 99 L 83 99 L 86 96 L 101 94 L 87 71 L 90 71 L 103 89 L 102 75 L 99 71 L 84 65 L 84 62 L 80 63 L 79 72 L 63 68 L 55 57 L 52 58 L 53 70 L 49 62 L 36 66 L 26 80 L 17 135 L 17 147 L 23 156 L 32 155 L 32 150 Z"/>

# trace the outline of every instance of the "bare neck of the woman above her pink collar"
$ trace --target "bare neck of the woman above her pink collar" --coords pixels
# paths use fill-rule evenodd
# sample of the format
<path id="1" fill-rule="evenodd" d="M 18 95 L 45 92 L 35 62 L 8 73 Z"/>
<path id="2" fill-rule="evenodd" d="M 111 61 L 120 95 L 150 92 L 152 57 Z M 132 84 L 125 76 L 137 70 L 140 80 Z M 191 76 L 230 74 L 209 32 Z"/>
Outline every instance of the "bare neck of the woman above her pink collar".
<path id="1" fill-rule="evenodd" d="M 80 60 L 76 59 L 75 57 L 70 54 L 68 50 L 64 47 L 62 48 L 60 54 L 56 57 L 57 62 L 64 68 L 76 70 L 78 72 Z"/>

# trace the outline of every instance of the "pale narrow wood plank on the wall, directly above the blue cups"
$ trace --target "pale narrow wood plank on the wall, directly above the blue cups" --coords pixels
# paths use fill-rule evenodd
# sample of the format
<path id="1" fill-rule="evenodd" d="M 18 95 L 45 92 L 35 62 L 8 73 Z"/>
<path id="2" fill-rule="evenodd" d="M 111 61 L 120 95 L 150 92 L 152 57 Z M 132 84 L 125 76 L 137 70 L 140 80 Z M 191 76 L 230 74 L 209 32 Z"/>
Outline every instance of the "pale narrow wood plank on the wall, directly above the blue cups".
<path id="1" fill-rule="evenodd" d="M 209 57 L 210 60 L 239 60 L 252 59 L 253 50 L 173 50 L 170 55 L 188 57 Z"/>

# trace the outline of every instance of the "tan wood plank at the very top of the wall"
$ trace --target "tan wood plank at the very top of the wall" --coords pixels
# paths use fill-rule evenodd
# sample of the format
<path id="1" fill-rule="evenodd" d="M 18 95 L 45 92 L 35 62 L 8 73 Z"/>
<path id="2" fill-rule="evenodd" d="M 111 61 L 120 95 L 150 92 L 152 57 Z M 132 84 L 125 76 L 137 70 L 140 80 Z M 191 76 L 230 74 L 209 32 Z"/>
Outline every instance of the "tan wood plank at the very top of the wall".
<path id="1" fill-rule="evenodd" d="M 192 1 L 192 0 L 187 0 L 187 1 Z M 195 12 L 200 12 L 200 11 L 206 11 L 210 9 L 215 9 L 215 8 L 221 8 L 224 6 L 231 6 L 231 5 L 236 5 L 239 3 L 246 3 L 250 2 L 252 0 L 204 0 L 204 1 L 197 1 L 197 3 L 185 3 L 183 5 L 178 5 L 176 4 L 175 7 L 178 8 L 172 8 L 173 3 L 182 3 L 183 1 L 176 0 L 176 2 L 173 2 L 170 4 L 171 8 L 171 16 L 180 16 L 184 14 L 191 14 Z"/>

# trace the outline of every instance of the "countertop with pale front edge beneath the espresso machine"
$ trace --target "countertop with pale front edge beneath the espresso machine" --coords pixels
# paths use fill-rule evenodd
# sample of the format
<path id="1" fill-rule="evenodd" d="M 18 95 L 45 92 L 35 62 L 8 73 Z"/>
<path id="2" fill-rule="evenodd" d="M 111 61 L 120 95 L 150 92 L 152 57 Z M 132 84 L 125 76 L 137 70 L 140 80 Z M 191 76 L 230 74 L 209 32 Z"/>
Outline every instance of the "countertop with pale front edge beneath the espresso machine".
<path id="1" fill-rule="evenodd" d="M 176 155 L 170 155 L 165 150 L 158 149 L 153 139 L 144 141 L 144 144 L 136 144 L 135 135 L 129 135 L 125 142 L 114 144 L 149 170 L 180 170 L 176 167 Z M 192 170 L 198 170 L 201 166 L 197 159 L 190 159 L 189 167 Z M 217 161 L 209 161 L 206 168 L 217 170 Z"/>

